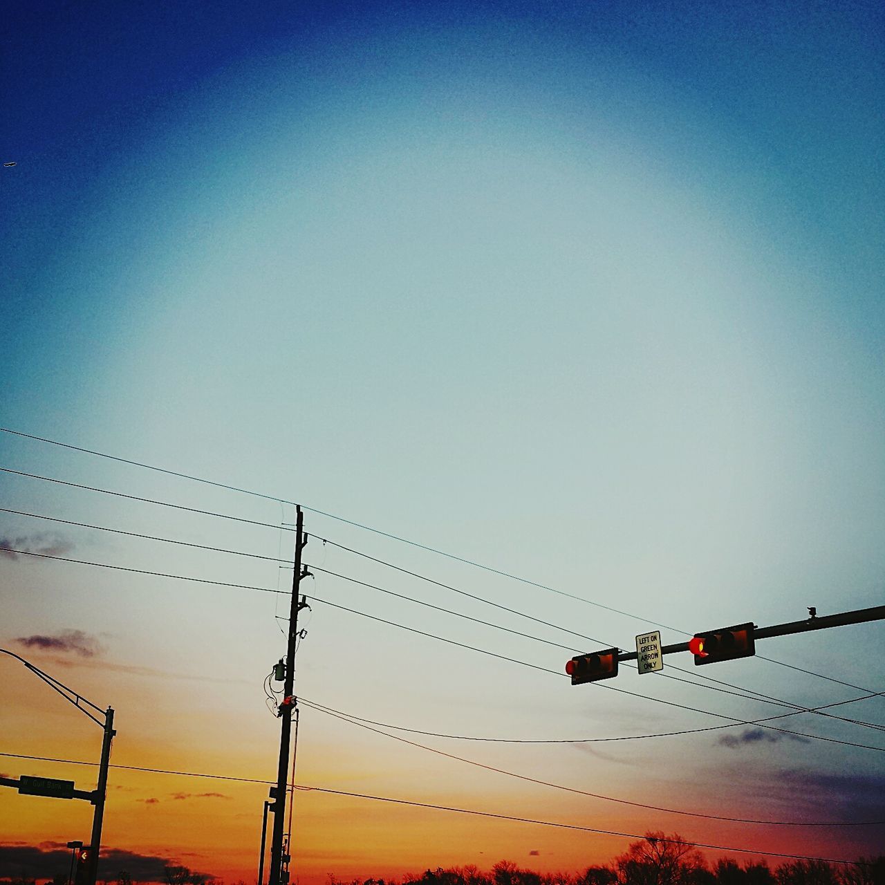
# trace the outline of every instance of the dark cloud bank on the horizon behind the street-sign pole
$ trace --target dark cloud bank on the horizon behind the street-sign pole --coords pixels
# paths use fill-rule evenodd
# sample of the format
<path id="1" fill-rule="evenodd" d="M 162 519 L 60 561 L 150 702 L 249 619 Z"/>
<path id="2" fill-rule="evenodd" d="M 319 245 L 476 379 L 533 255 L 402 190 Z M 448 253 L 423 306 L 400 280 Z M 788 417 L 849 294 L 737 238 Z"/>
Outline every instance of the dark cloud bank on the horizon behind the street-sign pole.
<path id="1" fill-rule="evenodd" d="M 157 882 L 163 881 L 163 871 L 166 866 L 179 866 L 179 864 L 176 858 L 109 848 L 104 849 L 98 858 L 98 877 L 112 880 L 126 870 L 132 881 Z M 55 875 L 62 874 L 66 879 L 70 868 L 71 851 L 66 846 L 41 849 L 22 843 L 0 844 L 0 870 L 4 871 L 4 875 L 13 878 L 21 876 L 27 879 L 51 879 Z M 214 878 L 208 873 L 206 875 Z"/>

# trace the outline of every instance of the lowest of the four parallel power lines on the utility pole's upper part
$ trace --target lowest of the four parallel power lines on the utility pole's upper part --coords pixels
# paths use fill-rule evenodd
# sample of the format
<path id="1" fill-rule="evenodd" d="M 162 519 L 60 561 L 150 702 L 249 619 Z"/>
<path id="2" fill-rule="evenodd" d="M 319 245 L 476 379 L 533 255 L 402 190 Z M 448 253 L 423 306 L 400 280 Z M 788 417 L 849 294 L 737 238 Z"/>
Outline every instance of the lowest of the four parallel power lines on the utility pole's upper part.
<path id="1" fill-rule="evenodd" d="M 174 580 L 178 580 L 178 581 L 196 581 L 196 582 L 198 582 L 198 583 L 212 584 L 212 585 L 217 585 L 217 586 L 220 586 L 220 587 L 232 587 L 232 588 L 238 588 L 238 589 L 258 590 L 258 591 L 263 592 L 263 593 L 284 594 L 284 593 L 286 592 L 286 591 L 282 591 L 282 590 L 267 589 L 267 588 L 263 588 L 263 587 L 253 587 L 253 586 L 250 586 L 250 585 L 248 585 L 248 584 L 235 584 L 235 583 L 231 583 L 231 582 L 228 582 L 228 581 L 210 581 L 209 579 L 206 579 L 206 578 L 194 578 L 194 577 L 189 577 L 189 576 L 187 576 L 187 575 L 181 575 L 181 574 L 171 574 L 171 573 L 165 573 L 165 572 L 154 572 L 154 571 L 150 571 L 150 570 L 148 570 L 148 569 L 132 568 L 132 567 L 130 567 L 130 566 L 112 566 L 112 565 L 109 565 L 109 564 L 107 564 L 107 563 L 89 562 L 89 561 L 87 561 L 87 560 L 83 560 L 83 559 L 74 559 L 74 558 L 70 558 L 70 557 L 56 556 L 56 555 L 54 555 L 54 554 L 50 554 L 50 553 L 37 553 L 37 552 L 32 551 L 32 550 L 13 550 L 13 549 L 11 549 L 11 548 L 7 548 L 7 549 L 6 549 L 6 552 L 9 552 L 9 553 L 19 553 L 19 554 L 22 554 L 22 555 L 24 555 L 24 556 L 33 556 L 33 557 L 39 557 L 39 558 L 43 558 L 43 559 L 58 559 L 58 560 L 60 560 L 60 561 L 62 561 L 62 562 L 72 562 L 72 563 L 77 563 L 77 564 L 80 564 L 80 565 L 83 565 L 83 566 L 96 566 L 96 567 L 100 567 L 100 568 L 110 568 L 110 569 L 114 569 L 114 570 L 122 571 L 122 572 L 132 572 L 132 573 L 137 573 L 137 574 L 150 574 L 150 575 L 156 575 L 156 576 L 158 576 L 158 577 L 162 577 L 162 578 L 172 578 L 172 579 L 174 579 Z M 407 630 L 407 631 L 409 631 L 410 633 L 415 633 L 415 634 L 418 634 L 418 635 L 426 636 L 426 637 L 429 638 L 429 639 L 435 639 L 435 640 L 437 640 L 437 641 L 439 641 L 439 642 L 448 643 L 448 644 L 450 644 L 450 645 L 458 646 L 458 648 L 468 649 L 468 650 L 471 650 L 471 651 L 477 651 L 477 652 L 479 652 L 480 654 L 488 655 L 489 657 L 492 657 L 492 658 L 498 658 L 499 660 L 509 661 L 509 662 L 511 662 L 511 663 L 513 663 L 513 664 L 520 664 L 520 665 L 522 665 L 522 666 L 531 667 L 531 668 L 534 669 L 534 670 L 540 670 L 540 671 L 542 671 L 542 672 L 544 672 L 544 673 L 552 673 L 552 674 L 555 675 L 555 676 L 565 676 L 565 675 L 566 675 L 565 673 L 559 673 L 559 672 L 556 671 L 556 670 L 550 670 L 550 668 L 548 668 L 548 667 L 543 667 L 543 666 L 539 666 L 539 665 L 536 665 L 536 664 L 531 664 L 531 663 L 529 663 L 528 661 L 519 660 L 519 658 L 509 658 L 509 657 L 507 657 L 507 656 L 505 656 L 505 655 L 499 655 L 499 654 L 497 654 L 497 653 L 494 652 L 494 651 L 489 651 L 489 650 L 486 650 L 486 649 L 480 649 L 480 648 L 477 648 L 477 647 L 475 647 L 475 646 L 473 646 L 473 645 L 467 645 L 466 643 L 458 643 L 458 642 L 456 642 L 456 641 L 453 640 L 453 639 L 446 639 L 446 638 L 443 637 L 443 636 L 438 636 L 438 635 L 435 635 L 435 634 L 432 634 L 432 633 L 427 633 L 427 632 L 425 632 L 425 631 L 423 631 L 423 630 L 419 630 L 419 629 L 417 629 L 417 628 L 415 628 L 415 627 L 406 627 L 404 624 L 398 624 L 398 623 L 396 623 L 396 621 L 391 621 L 391 620 L 386 620 L 386 619 L 384 619 L 384 618 L 379 618 L 379 617 L 377 617 L 377 616 L 375 616 L 375 615 L 368 614 L 367 612 L 359 612 L 357 609 L 351 609 L 351 608 L 348 608 L 346 605 L 341 605 L 341 604 L 337 604 L 337 603 L 330 602 L 329 600 L 327 600 L 327 599 L 323 599 L 323 598 L 320 597 L 320 596 L 312 595 L 311 598 L 312 598 L 312 600 L 315 601 L 315 602 L 319 602 L 319 603 L 323 603 L 323 604 L 330 605 L 330 606 L 332 606 L 333 608 L 340 609 L 340 610 L 342 610 L 342 611 L 344 611 L 344 612 L 350 612 L 350 613 L 352 613 L 352 614 L 357 614 L 357 615 L 359 615 L 360 617 L 367 618 L 367 619 L 369 619 L 369 620 L 374 620 L 374 621 L 377 621 L 377 622 L 382 623 L 382 624 L 388 624 L 390 627 L 398 627 L 398 628 L 400 628 L 400 629 Z M 676 707 L 676 708 L 678 708 L 678 709 L 680 709 L 680 710 L 688 710 L 688 711 L 690 711 L 690 712 L 704 713 L 704 714 L 707 715 L 707 716 L 715 716 L 715 717 L 717 717 L 717 718 L 719 718 L 719 719 L 730 720 L 730 721 L 732 721 L 733 723 L 735 723 L 735 724 L 739 724 L 739 725 L 752 725 L 752 724 L 756 724 L 756 723 L 754 723 L 754 722 L 750 722 L 750 721 L 748 721 L 748 720 L 742 720 L 742 719 L 737 719 L 737 718 L 735 718 L 735 717 L 733 717 L 733 716 L 727 716 L 727 715 L 724 714 L 724 713 L 716 713 L 716 712 L 712 712 L 712 711 L 709 711 L 709 710 L 701 710 L 701 709 L 699 709 L 699 708 L 697 708 L 697 707 L 692 707 L 692 706 L 689 706 L 689 705 L 687 705 L 687 704 L 677 704 L 675 701 L 667 701 L 667 700 L 665 700 L 665 699 L 662 698 L 662 697 L 654 697 L 654 696 L 649 696 L 649 695 L 641 695 L 641 694 L 639 694 L 639 693 L 637 693 L 637 692 L 635 692 L 635 691 L 629 691 L 628 689 L 619 689 L 619 688 L 616 688 L 616 687 L 613 686 L 613 685 L 606 685 L 604 682 L 594 682 L 593 684 L 594 684 L 596 687 L 598 687 L 598 688 L 608 689 L 608 690 L 610 690 L 610 691 L 617 691 L 617 692 L 619 692 L 620 694 L 629 695 L 629 696 L 633 696 L 633 697 L 639 697 L 639 698 L 642 698 L 642 699 L 645 700 L 645 701 L 653 701 L 653 702 L 655 702 L 655 703 L 657 703 L 657 704 L 666 704 L 667 706 Z M 873 693 L 873 694 L 875 694 L 875 693 Z M 787 714 L 784 714 L 784 715 L 788 715 L 788 716 L 789 716 L 789 715 L 797 715 L 798 713 L 801 713 L 801 712 L 804 712 L 804 711 L 803 711 L 803 710 L 797 710 L 797 711 L 790 712 L 790 713 L 787 713 Z M 782 718 L 782 717 L 781 717 L 781 718 Z M 759 723 L 759 724 L 761 724 L 761 722 L 762 722 L 762 720 L 758 720 L 758 723 Z M 859 749 L 862 749 L 862 750 L 878 750 L 878 751 L 880 751 L 880 752 L 885 751 L 885 748 L 882 748 L 882 747 L 873 747 L 873 746 L 871 746 L 871 745 L 869 745 L 869 744 L 865 744 L 865 743 L 854 743 L 854 742 L 852 742 L 852 741 L 842 741 L 842 740 L 839 740 L 838 738 L 835 738 L 835 737 L 825 737 L 824 735 L 809 735 L 809 734 L 806 734 L 805 732 L 790 731 L 789 729 L 786 729 L 786 728 L 777 728 L 777 727 L 773 727 L 773 726 L 769 726 L 769 725 L 764 725 L 764 724 L 762 725 L 762 727 L 763 727 L 763 728 L 769 728 L 769 729 L 771 729 L 771 730 L 773 730 L 773 731 L 781 732 L 781 733 L 786 734 L 786 735 L 797 735 L 798 737 L 811 738 L 811 739 L 816 740 L 816 741 L 826 741 L 827 743 L 840 743 L 840 744 L 843 744 L 843 745 L 845 745 L 845 746 L 858 747 Z"/>

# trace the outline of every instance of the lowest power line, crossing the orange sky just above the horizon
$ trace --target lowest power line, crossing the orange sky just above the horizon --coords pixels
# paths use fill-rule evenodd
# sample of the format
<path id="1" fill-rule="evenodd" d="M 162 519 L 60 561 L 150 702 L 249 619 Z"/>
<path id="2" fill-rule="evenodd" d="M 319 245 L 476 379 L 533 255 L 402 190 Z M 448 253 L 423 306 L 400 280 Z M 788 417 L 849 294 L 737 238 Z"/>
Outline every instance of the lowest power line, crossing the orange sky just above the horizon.
<path id="1" fill-rule="evenodd" d="M 19 758 L 19 759 L 35 759 L 37 761 L 42 762 L 58 762 L 66 765 L 74 765 L 74 766 L 96 766 L 95 762 L 85 762 L 81 759 L 58 759 L 58 758 L 49 758 L 42 756 L 25 756 L 19 753 L 5 753 L 0 752 L 0 756 L 5 756 L 9 758 Z M 227 774 L 207 774 L 207 773 L 197 773 L 197 772 L 183 772 L 183 771 L 167 771 L 163 768 L 145 768 L 142 766 L 120 766 L 111 764 L 112 768 L 119 768 L 125 771 L 137 771 L 137 772 L 147 772 L 153 774 L 173 774 L 179 775 L 181 777 L 198 777 L 198 778 L 209 778 L 216 781 L 235 781 L 239 783 L 257 783 L 257 784 L 272 784 L 273 781 L 263 781 L 254 778 L 242 778 L 242 777 L 233 777 Z M 525 823 L 525 824 L 535 824 L 542 827 L 561 827 L 563 829 L 571 829 L 571 830 L 580 830 L 585 833 L 598 833 L 601 835 L 616 835 L 622 836 L 625 839 L 641 839 L 644 840 L 644 835 L 639 835 L 638 833 L 621 833 L 615 830 L 604 830 L 596 827 L 581 827 L 578 824 L 563 824 L 558 823 L 557 821 L 551 820 L 535 820 L 533 818 L 520 818 L 515 815 L 509 814 L 496 814 L 494 812 L 480 812 L 473 809 L 468 808 L 455 808 L 449 805 L 436 805 L 425 802 L 415 802 L 410 799 L 396 799 L 392 797 L 385 796 L 370 796 L 366 793 L 352 793 L 347 790 L 342 789 L 328 789 L 326 787 L 311 787 L 306 784 L 293 784 L 295 789 L 302 790 L 304 792 L 316 792 L 316 793 L 328 793 L 333 796 L 348 796 L 358 799 L 371 799 L 378 802 L 389 802 L 394 804 L 401 805 L 412 805 L 417 808 L 430 808 L 435 811 L 441 812 L 458 812 L 461 814 L 473 814 L 478 817 L 484 818 L 494 818 L 496 820 L 512 820 L 516 823 Z M 818 858 L 812 857 L 811 855 L 805 854 L 788 854 L 780 851 L 765 851 L 761 849 L 755 848 L 735 848 L 729 845 L 712 845 L 709 843 L 702 842 L 691 842 L 685 839 L 672 839 L 667 838 L 666 836 L 660 838 L 659 842 L 666 843 L 676 843 L 682 845 L 691 845 L 695 848 L 707 848 L 715 851 L 736 851 L 740 854 L 761 854 L 769 858 L 788 858 L 790 860 L 821 860 L 827 864 L 850 864 L 852 866 L 865 866 L 863 862 L 857 860 L 843 860 L 838 858 Z"/>

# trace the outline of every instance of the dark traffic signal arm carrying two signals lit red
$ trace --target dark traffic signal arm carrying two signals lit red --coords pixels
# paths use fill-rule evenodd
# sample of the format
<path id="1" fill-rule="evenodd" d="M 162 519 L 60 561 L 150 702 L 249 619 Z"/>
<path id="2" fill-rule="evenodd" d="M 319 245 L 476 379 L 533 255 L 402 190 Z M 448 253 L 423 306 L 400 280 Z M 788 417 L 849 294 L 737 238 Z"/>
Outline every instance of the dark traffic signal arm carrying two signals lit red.
<path id="1" fill-rule="evenodd" d="M 794 633 L 807 633 L 809 630 L 826 630 L 829 627 L 846 627 L 849 624 L 863 624 L 870 620 L 885 620 L 885 605 L 874 605 L 873 608 L 858 609 L 855 612 L 829 614 L 820 618 L 816 615 L 814 609 L 809 609 L 809 612 L 811 612 L 810 617 L 805 620 L 794 620 L 790 621 L 789 624 L 775 624 L 773 627 L 754 627 L 752 623 L 749 623 L 739 624 L 735 627 L 720 627 L 716 630 L 709 630 L 703 634 L 696 634 L 694 639 L 689 640 L 687 643 L 673 643 L 672 645 L 662 646 L 660 654 L 669 655 L 676 651 L 692 651 L 695 653 L 696 663 L 706 663 L 703 658 L 708 657 L 708 653 L 704 652 L 704 643 L 702 642 L 698 645 L 696 640 L 699 638 L 704 640 L 705 637 L 716 637 L 728 633 L 746 635 L 746 641 L 749 643 L 747 649 L 730 653 L 723 650 L 723 657 L 720 658 L 717 658 L 714 654 L 710 654 L 709 657 L 711 660 L 709 663 L 714 663 L 717 659 L 726 660 L 728 658 L 747 657 L 748 655 L 755 654 L 754 643 L 757 639 L 770 639 L 772 636 L 788 636 Z M 700 649 L 700 653 L 696 650 L 697 648 Z M 578 673 L 581 672 L 581 669 L 586 668 L 587 665 L 583 662 L 588 658 L 591 656 L 594 658 L 603 656 L 603 659 L 605 659 L 605 656 L 610 655 L 612 651 L 616 650 L 605 650 L 595 653 L 588 652 L 586 655 L 579 655 L 572 658 L 572 660 L 566 665 L 566 673 L 569 673 L 569 675 L 572 676 L 572 684 L 578 685 L 581 681 L 596 681 L 596 679 L 607 679 L 611 676 L 617 675 L 618 668 L 614 662 L 612 662 L 614 666 L 610 666 L 606 669 L 604 675 L 601 673 L 593 673 L 592 675 L 588 673 L 588 676 L 584 676 L 583 678 L 578 675 Z M 630 661 L 636 660 L 638 657 L 636 651 L 621 651 L 615 660 Z"/>

